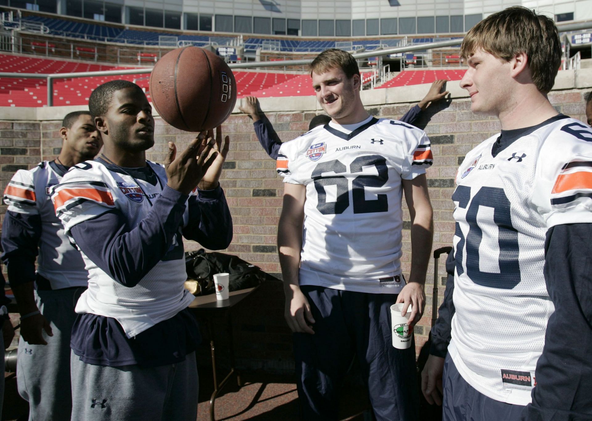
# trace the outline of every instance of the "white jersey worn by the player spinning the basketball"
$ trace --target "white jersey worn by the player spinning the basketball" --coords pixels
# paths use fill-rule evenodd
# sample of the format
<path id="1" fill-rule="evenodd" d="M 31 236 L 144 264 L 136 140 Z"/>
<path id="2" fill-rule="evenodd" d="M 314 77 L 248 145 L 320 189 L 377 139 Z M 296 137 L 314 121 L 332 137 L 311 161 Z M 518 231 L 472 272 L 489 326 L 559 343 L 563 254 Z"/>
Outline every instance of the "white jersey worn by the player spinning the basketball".
<path id="1" fill-rule="evenodd" d="M 70 236 L 73 226 L 113 209 L 120 210 L 127 217 L 130 229 L 140 224 L 152 208 L 151 201 L 156 200 L 167 181 L 162 165 L 148 164 L 157 175 L 156 185 L 109 171 L 96 161 L 80 163 L 66 173 L 62 183 L 54 187 L 52 199 L 66 235 L 73 243 L 75 241 Z M 182 226 L 188 223 L 188 217 L 186 208 Z M 82 293 L 76 304 L 76 313 L 113 317 L 128 338 L 169 319 L 193 301 L 193 295 L 183 287 L 187 274 L 180 229 L 165 258 L 131 288 L 116 282 L 83 252 L 82 257 L 89 281 L 88 290 Z"/>

